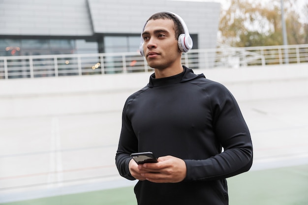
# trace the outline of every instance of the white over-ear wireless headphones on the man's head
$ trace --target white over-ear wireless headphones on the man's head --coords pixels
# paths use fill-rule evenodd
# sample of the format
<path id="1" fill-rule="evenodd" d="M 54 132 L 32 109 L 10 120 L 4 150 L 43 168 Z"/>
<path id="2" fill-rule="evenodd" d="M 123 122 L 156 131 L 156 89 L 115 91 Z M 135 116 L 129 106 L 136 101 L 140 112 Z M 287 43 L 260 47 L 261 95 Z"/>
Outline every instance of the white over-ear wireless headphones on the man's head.
<path id="1" fill-rule="evenodd" d="M 192 48 L 192 39 L 189 35 L 189 32 L 188 32 L 188 29 L 187 29 L 187 26 L 184 22 L 184 20 L 177 14 L 175 13 L 172 13 L 172 12 L 169 12 L 169 11 L 161 11 L 161 12 L 157 12 L 157 13 L 167 13 L 167 14 L 172 14 L 174 15 L 180 22 L 181 22 L 181 25 L 184 29 L 184 33 L 182 33 L 179 38 L 178 38 L 178 45 L 179 45 L 179 49 L 180 51 L 182 51 L 183 53 L 186 53 L 188 52 L 191 48 Z M 154 14 L 157 14 L 157 13 L 154 13 Z M 153 15 L 154 15 L 153 14 Z M 141 43 L 140 43 L 140 54 L 141 56 L 145 56 L 144 54 L 144 50 L 143 50 L 143 37 L 142 37 L 142 33 L 144 31 L 144 28 L 146 27 L 148 22 L 145 23 L 143 29 L 142 29 L 142 32 L 141 32 Z"/>

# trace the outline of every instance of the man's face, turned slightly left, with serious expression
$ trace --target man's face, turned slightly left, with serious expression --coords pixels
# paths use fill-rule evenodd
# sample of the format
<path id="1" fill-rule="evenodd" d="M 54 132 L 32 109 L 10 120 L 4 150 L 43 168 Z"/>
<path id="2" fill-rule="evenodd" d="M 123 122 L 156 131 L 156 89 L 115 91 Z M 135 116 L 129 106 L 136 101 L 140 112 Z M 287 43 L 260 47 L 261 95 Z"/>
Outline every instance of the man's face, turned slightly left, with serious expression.
<path id="1" fill-rule="evenodd" d="M 172 68 L 181 59 L 178 39 L 175 38 L 174 23 L 170 19 L 148 21 L 142 34 L 143 50 L 150 67 Z"/>

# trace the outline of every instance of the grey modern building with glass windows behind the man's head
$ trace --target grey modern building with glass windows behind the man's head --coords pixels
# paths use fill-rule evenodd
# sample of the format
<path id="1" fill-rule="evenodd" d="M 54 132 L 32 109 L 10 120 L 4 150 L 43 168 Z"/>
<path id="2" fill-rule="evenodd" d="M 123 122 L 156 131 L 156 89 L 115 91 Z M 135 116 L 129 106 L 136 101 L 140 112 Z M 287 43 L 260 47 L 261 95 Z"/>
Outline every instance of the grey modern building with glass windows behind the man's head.
<path id="1" fill-rule="evenodd" d="M 135 52 L 145 21 L 172 11 L 193 49 L 216 47 L 220 4 L 175 0 L 0 0 L 0 56 Z"/>

